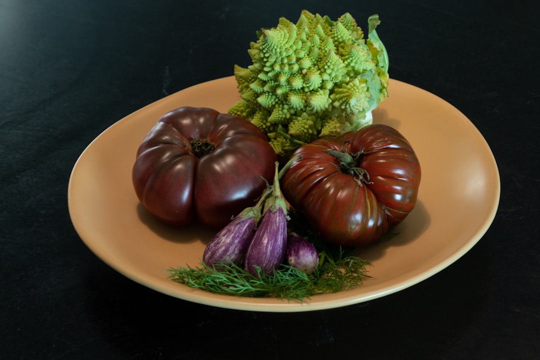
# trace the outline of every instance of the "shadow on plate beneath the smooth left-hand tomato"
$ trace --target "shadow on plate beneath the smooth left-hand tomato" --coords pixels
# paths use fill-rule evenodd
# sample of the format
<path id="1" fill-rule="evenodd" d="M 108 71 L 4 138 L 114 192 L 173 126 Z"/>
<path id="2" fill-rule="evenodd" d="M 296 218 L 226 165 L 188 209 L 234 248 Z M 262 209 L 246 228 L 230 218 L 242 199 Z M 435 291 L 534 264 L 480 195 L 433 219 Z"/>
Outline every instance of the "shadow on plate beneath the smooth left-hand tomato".
<path id="1" fill-rule="evenodd" d="M 201 241 L 206 245 L 218 231 L 197 222 L 181 227 L 167 225 L 149 213 L 140 202 L 137 205 L 137 216 L 141 223 L 148 227 L 154 234 L 161 237 L 161 239 L 177 243 Z"/>

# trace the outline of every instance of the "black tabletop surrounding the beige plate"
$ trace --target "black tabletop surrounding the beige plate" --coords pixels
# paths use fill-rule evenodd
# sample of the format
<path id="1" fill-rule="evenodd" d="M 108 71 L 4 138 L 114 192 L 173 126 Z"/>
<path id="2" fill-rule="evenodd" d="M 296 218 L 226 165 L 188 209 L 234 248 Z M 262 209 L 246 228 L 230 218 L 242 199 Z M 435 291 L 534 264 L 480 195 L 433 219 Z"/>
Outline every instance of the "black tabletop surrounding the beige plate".
<path id="1" fill-rule="evenodd" d="M 0 358 L 538 358 L 538 4 L 0 0 Z M 302 9 L 360 25 L 379 13 L 390 77 L 478 128 L 502 189 L 487 233 L 415 286 L 305 313 L 179 300 L 98 259 L 68 210 L 84 148 L 133 111 L 247 66 L 255 30 Z"/>

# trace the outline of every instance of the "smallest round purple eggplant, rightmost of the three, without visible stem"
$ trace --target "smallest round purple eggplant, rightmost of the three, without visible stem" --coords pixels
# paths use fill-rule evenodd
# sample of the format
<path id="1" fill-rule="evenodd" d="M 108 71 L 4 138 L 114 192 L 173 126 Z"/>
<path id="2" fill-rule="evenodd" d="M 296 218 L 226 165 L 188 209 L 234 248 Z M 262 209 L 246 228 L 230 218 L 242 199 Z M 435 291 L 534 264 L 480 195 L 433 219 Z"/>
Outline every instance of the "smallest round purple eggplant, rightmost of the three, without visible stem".
<path id="1" fill-rule="evenodd" d="M 289 233 L 285 260 L 303 273 L 311 274 L 319 265 L 319 253 L 311 242 L 298 234 Z"/>

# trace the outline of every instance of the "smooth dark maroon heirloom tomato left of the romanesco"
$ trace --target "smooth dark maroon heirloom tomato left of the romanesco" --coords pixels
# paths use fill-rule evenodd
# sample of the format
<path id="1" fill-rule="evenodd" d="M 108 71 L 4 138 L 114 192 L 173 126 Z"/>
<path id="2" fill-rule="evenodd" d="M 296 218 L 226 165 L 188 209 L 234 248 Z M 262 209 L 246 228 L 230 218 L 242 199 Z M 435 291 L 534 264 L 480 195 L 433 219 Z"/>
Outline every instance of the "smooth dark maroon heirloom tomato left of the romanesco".
<path id="1" fill-rule="evenodd" d="M 163 117 L 137 151 L 132 180 L 161 221 L 222 228 L 253 206 L 272 181 L 276 154 L 249 121 L 210 108 L 181 107 Z"/>

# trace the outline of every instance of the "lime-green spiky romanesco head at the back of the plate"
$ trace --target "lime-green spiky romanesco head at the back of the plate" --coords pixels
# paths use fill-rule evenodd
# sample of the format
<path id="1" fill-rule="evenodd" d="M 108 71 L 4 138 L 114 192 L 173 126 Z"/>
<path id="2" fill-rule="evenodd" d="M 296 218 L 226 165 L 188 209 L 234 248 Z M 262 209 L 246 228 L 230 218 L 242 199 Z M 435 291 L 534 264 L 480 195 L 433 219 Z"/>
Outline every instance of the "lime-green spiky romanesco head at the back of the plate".
<path id="1" fill-rule="evenodd" d="M 296 24 L 280 18 L 248 50 L 253 64 L 235 65 L 241 100 L 228 111 L 257 125 L 278 155 L 322 136 L 372 123 L 388 96 L 388 55 L 368 19 L 368 38 L 345 13 L 337 21 L 303 10 Z"/>

